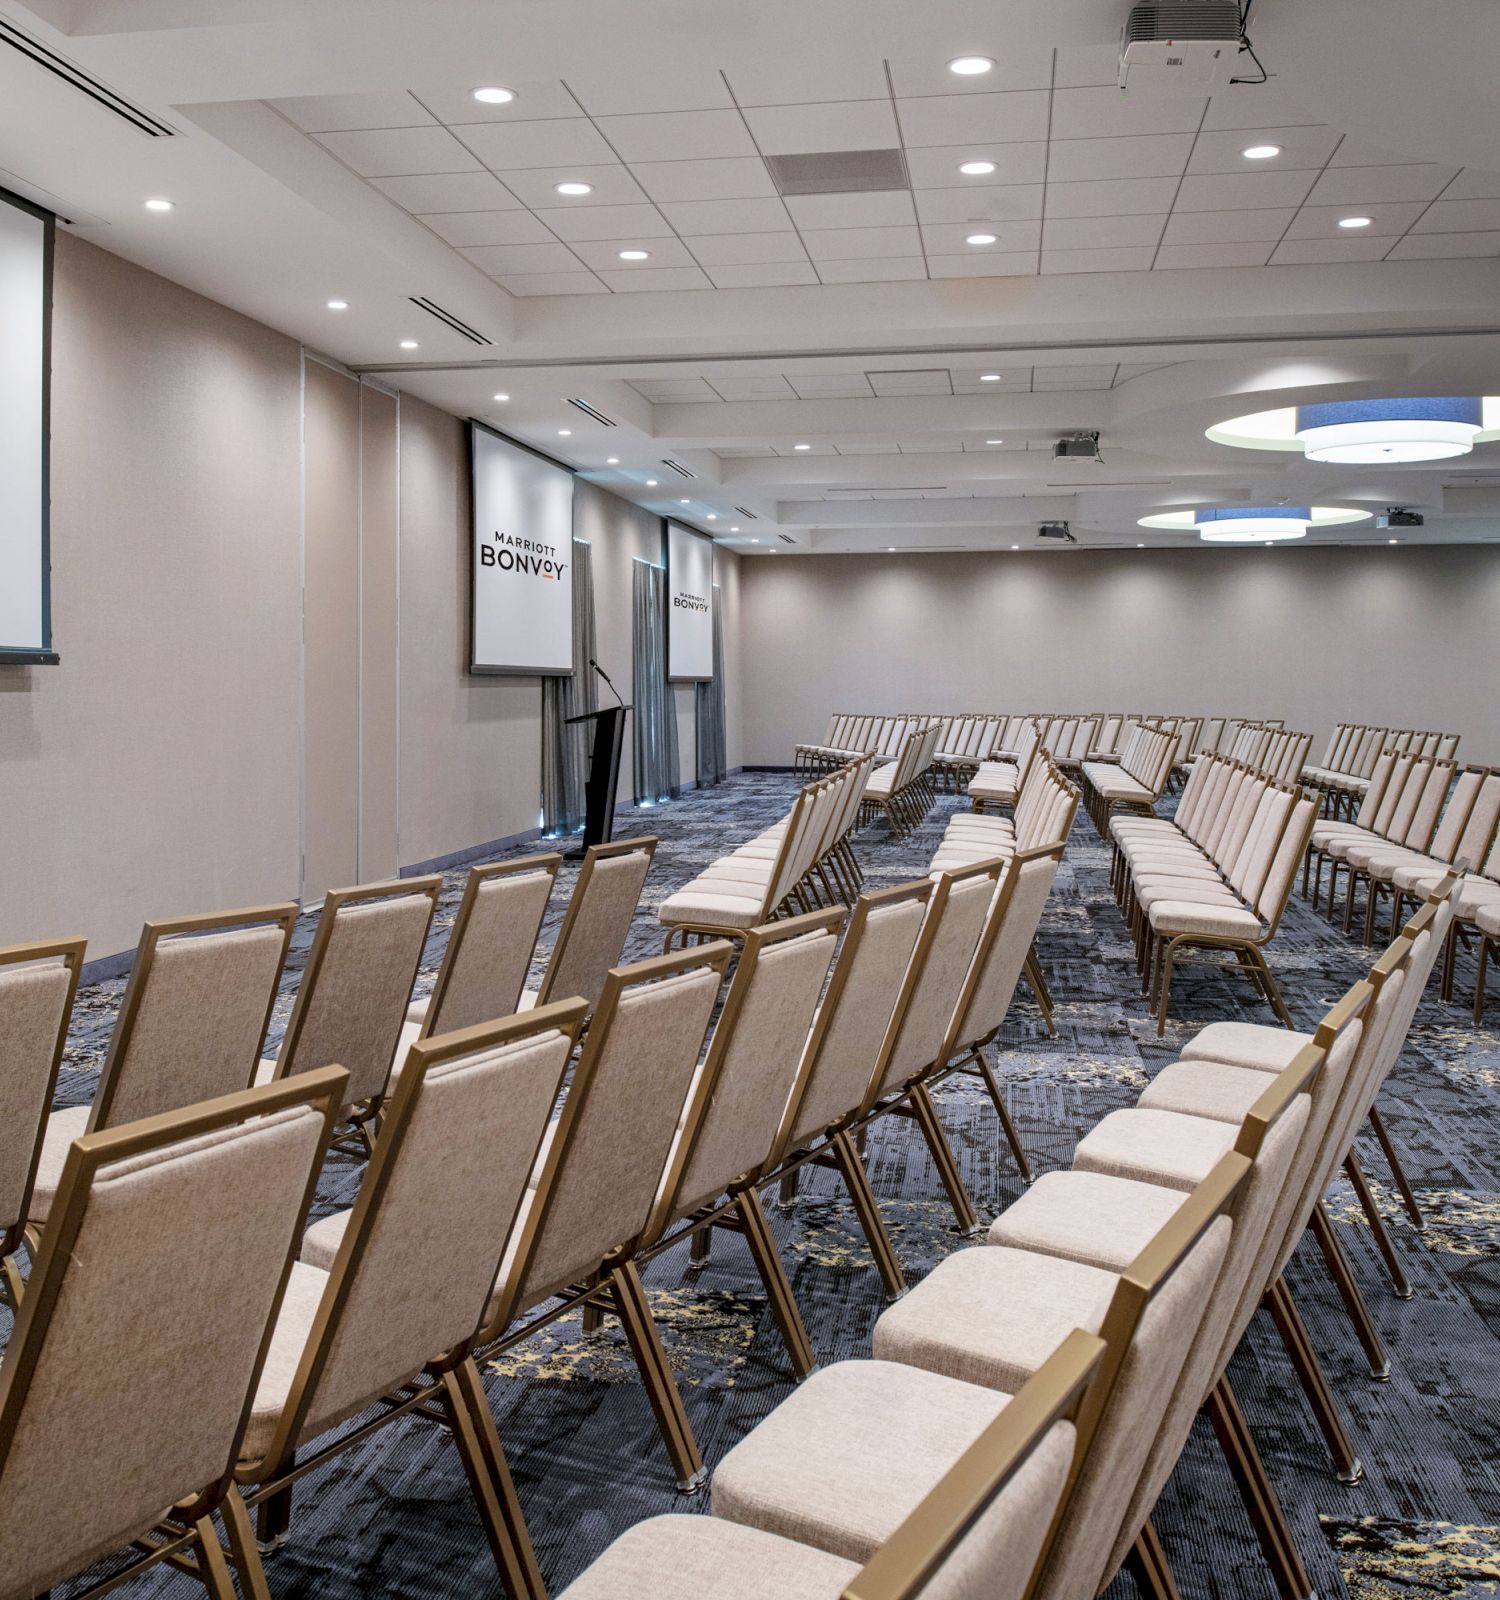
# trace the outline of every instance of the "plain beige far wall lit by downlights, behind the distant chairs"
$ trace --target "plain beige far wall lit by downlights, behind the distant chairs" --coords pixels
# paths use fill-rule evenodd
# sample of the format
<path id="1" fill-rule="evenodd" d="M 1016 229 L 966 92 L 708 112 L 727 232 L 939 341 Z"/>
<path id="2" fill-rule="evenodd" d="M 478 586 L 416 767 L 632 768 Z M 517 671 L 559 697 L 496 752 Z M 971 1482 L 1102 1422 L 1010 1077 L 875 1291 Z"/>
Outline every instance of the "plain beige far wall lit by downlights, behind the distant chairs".
<path id="1" fill-rule="evenodd" d="M 1065 550 L 740 563 L 744 757 L 833 710 L 1161 710 L 1444 728 L 1500 762 L 1500 549 Z"/>

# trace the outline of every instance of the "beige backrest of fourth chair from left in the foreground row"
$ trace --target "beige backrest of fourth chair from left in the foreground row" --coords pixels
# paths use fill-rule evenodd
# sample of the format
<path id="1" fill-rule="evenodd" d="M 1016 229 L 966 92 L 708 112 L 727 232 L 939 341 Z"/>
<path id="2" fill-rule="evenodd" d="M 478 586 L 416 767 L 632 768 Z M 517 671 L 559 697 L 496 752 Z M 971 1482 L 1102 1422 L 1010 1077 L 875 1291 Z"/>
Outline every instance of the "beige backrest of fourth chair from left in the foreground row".
<path id="1" fill-rule="evenodd" d="M 646 1227 L 648 1242 L 764 1168 L 843 920 L 836 907 L 750 930 Z"/>

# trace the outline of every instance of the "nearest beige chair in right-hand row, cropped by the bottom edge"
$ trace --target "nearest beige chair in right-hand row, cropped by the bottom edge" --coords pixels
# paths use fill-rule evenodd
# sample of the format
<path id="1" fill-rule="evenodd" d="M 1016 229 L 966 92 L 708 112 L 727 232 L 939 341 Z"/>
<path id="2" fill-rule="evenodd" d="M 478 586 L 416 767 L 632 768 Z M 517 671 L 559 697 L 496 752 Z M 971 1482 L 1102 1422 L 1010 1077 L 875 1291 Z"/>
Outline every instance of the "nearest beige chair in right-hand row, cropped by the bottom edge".
<path id="1" fill-rule="evenodd" d="M 1075 1330 L 862 1566 L 723 1517 L 652 1517 L 561 1600 L 1025 1600 L 1078 1477 L 1103 1354 Z"/>

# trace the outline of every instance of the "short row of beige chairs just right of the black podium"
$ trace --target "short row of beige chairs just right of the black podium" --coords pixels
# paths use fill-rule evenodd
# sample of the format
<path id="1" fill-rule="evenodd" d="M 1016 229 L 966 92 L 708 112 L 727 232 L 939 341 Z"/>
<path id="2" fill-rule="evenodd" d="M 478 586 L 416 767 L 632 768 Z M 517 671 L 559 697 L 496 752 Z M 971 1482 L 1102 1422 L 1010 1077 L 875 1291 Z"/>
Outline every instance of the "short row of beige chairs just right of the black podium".
<path id="1" fill-rule="evenodd" d="M 772 917 L 844 906 L 864 882 L 851 834 L 875 757 L 862 755 L 804 784 L 780 821 L 710 862 L 657 907 L 664 950 L 681 939 L 742 939 Z"/>

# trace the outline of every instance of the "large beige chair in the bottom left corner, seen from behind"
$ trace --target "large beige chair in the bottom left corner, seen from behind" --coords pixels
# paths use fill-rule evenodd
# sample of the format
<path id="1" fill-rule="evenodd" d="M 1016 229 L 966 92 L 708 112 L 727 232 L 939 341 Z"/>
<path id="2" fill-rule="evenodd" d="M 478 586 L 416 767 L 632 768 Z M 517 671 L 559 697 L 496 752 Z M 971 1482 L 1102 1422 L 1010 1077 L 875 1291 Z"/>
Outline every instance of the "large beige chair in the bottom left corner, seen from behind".
<path id="1" fill-rule="evenodd" d="M 216 1512 L 265 1594 L 233 1462 L 342 1094 L 309 1074 L 69 1147 L 0 1366 L 5 1600 L 126 1547 L 86 1592 L 192 1558 L 233 1600 Z"/>

